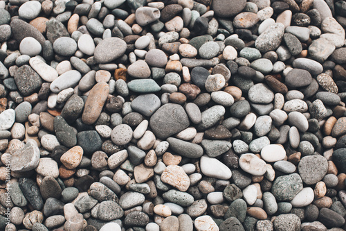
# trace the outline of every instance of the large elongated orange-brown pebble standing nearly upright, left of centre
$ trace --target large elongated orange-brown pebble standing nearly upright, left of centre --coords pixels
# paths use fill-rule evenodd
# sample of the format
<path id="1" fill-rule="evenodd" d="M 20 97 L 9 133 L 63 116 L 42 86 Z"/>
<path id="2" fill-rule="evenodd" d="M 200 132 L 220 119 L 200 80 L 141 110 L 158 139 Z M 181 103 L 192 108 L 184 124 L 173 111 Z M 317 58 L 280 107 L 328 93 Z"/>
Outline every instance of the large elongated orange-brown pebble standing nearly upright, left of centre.
<path id="1" fill-rule="evenodd" d="M 93 124 L 98 120 L 106 103 L 109 94 L 109 85 L 104 82 L 97 83 L 91 89 L 84 105 L 82 121 L 86 124 Z"/>

